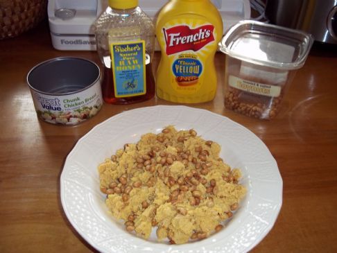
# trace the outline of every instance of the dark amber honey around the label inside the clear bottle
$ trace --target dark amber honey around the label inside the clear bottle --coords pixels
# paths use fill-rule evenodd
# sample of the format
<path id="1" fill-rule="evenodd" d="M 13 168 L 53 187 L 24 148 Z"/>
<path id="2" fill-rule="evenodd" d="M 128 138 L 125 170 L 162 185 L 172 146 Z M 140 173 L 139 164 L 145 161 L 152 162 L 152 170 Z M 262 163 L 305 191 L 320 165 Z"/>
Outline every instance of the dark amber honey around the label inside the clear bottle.
<path id="1" fill-rule="evenodd" d="M 146 64 L 146 94 L 139 96 L 128 96 L 116 98 L 114 94 L 114 76 L 112 69 L 103 66 L 102 94 L 106 103 L 110 104 L 130 104 L 146 101 L 155 96 L 155 78 L 153 77 L 152 64 Z"/>

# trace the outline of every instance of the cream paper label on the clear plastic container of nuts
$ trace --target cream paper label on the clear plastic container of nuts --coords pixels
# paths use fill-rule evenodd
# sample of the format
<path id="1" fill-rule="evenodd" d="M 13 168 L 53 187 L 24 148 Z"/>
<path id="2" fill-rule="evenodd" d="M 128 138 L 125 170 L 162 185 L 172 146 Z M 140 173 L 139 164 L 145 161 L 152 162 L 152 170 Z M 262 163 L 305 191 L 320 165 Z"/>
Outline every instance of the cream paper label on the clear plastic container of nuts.
<path id="1" fill-rule="evenodd" d="M 281 94 L 280 86 L 252 82 L 250 80 L 244 80 L 236 76 L 230 76 L 228 78 L 228 84 L 230 87 L 240 89 L 241 91 L 247 91 L 263 96 L 278 97 Z"/>

